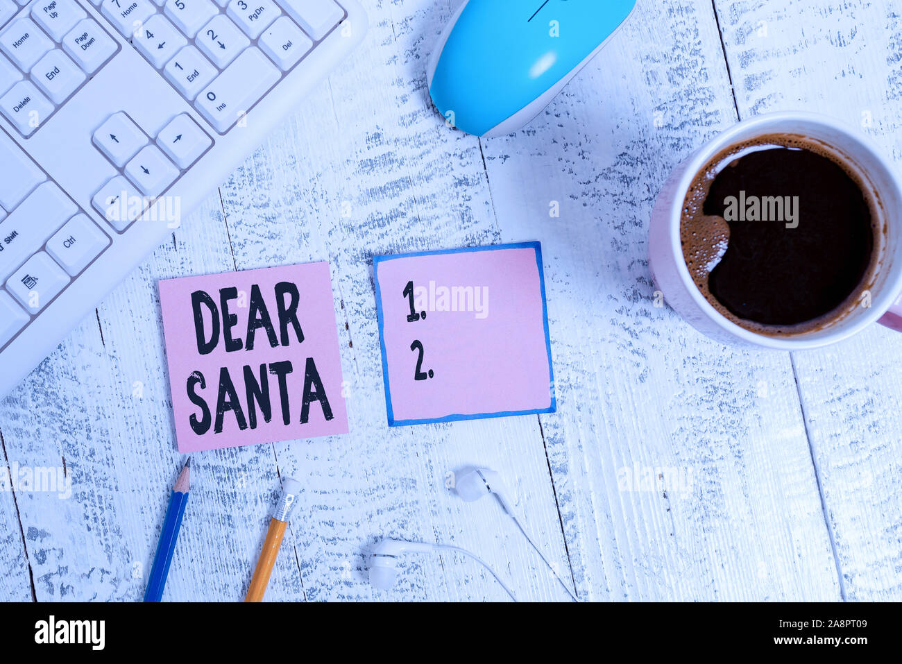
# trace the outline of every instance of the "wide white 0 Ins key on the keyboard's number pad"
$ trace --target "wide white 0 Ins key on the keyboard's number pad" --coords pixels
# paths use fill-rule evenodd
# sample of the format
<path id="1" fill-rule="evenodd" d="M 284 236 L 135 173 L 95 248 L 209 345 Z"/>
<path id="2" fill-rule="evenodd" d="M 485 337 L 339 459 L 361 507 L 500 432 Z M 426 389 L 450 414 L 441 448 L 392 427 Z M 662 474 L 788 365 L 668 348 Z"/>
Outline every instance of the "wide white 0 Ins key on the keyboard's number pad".
<path id="1" fill-rule="evenodd" d="M 248 49 L 200 93 L 195 106 L 217 132 L 225 134 L 280 76 L 279 69 L 259 49 Z"/>

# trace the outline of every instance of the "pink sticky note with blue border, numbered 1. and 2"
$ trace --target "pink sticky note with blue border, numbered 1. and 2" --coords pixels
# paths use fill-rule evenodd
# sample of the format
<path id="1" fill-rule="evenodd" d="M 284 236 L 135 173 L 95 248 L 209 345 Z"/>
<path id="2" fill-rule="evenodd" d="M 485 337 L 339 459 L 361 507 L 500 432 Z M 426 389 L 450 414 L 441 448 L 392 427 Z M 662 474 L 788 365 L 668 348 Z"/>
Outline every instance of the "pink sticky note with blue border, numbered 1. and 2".
<path id="1" fill-rule="evenodd" d="M 373 259 L 389 424 L 554 412 L 541 245 Z"/>

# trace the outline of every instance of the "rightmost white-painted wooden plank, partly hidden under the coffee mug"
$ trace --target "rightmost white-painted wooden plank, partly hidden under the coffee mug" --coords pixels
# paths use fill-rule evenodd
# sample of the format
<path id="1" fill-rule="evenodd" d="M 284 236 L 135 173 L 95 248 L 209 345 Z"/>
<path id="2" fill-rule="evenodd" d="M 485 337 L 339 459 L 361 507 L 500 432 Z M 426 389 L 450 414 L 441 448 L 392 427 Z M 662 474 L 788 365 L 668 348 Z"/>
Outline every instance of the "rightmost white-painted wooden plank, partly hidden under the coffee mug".
<path id="1" fill-rule="evenodd" d="M 891 0 L 716 0 L 741 114 L 807 109 L 902 160 L 902 43 Z M 880 327 L 793 356 L 843 596 L 902 598 L 902 338 Z"/>

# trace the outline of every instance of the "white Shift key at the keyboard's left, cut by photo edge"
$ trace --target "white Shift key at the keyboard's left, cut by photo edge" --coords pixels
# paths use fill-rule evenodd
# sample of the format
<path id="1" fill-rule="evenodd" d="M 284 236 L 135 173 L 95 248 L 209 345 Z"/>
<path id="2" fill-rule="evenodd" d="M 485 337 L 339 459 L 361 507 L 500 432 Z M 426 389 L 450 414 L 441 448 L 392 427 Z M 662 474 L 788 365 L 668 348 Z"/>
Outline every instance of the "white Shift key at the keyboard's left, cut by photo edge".
<path id="1" fill-rule="evenodd" d="M 0 281 L 38 251 L 76 212 L 75 203 L 53 182 L 44 182 L 25 198 L 0 222 Z"/>

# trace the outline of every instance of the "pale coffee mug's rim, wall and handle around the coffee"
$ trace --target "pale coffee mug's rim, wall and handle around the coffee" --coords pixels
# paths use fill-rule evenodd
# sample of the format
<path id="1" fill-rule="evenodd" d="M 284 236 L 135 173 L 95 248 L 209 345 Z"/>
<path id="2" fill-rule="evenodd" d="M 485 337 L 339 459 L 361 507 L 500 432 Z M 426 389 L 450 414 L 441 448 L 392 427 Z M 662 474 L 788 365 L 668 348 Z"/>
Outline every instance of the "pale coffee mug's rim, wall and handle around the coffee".
<path id="1" fill-rule="evenodd" d="M 818 329 L 769 337 L 741 327 L 721 314 L 695 285 L 680 244 L 680 220 L 686 191 L 696 174 L 724 149 L 764 134 L 799 134 L 837 152 L 879 200 L 887 227 L 879 251 L 877 277 L 867 301 L 847 316 Z M 732 346 L 800 350 L 833 344 L 879 322 L 902 332 L 902 185 L 893 165 L 865 134 L 824 115 L 774 113 L 758 115 L 713 138 L 680 164 L 658 194 L 649 231 L 651 276 L 664 300 L 693 327 Z"/>

